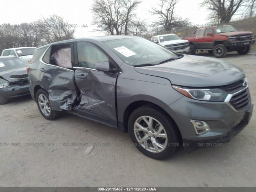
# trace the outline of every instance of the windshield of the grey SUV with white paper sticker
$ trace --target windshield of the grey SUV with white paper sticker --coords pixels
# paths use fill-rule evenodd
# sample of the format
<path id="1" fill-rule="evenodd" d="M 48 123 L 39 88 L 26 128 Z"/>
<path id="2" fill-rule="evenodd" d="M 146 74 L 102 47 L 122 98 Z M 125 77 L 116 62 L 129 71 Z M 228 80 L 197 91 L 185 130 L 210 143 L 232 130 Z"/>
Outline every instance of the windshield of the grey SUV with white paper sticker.
<path id="1" fill-rule="evenodd" d="M 144 38 L 126 38 L 103 42 L 126 64 L 158 64 L 163 60 L 178 57 L 177 54 Z"/>

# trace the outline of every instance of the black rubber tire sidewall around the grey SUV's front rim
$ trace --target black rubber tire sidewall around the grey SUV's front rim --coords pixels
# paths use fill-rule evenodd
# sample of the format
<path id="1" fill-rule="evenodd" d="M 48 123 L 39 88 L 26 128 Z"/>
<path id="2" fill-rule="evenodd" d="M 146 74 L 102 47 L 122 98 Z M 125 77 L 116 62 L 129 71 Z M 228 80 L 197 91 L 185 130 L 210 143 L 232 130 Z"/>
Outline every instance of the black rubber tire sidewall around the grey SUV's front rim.
<path id="1" fill-rule="evenodd" d="M 144 149 L 142 146 L 140 146 L 139 142 L 136 139 L 136 136 L 134 134 L 134 122 L 140 117 L 140 116 L 150 116 L 158 120 L 162 124 L 162 126 L 165 129 L 165 132 L 167 134 L 168 143 L 166 148 L 160 152 L 160 153 L 153 153 L 146 149 Z M 128 120 L 128 132 L 130 134 L 130 138 L 144 155 L 154 158 L 157 160 L 164 160 L 172 156 L 177 150 L 177 148 L 180 146 L 180 143 L 178 142 L 178 136 L 176 130 L 174 130 L 173 123 L 164 115 L 163 113 L 154 110 L 152 108 L 138 108 L 132 112 L 130 115 L 130 118 Z"/>

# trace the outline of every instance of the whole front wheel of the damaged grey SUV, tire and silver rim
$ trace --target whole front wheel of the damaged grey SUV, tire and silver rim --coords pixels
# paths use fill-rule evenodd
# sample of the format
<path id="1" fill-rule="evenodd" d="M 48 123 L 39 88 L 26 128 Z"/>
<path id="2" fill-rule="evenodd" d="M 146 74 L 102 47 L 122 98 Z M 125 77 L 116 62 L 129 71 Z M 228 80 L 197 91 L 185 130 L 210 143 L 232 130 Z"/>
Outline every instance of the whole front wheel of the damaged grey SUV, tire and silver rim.
<path id="1" fill-rule="evenodd" d="M 149 130 L 150 126 L 148 124 L 150 124 L 150 119 L 153 123 Z M 138 128 L 135 125 L 136 122 L 145 129 Z M 134 131 L 135 129 L 137 131 Z M 169 158 L 180 146 L 180 133 L 176 124 L 169 116 L 154 106 L 145 105 L 134 110 L 128 120 L 128 132 L 136 148 L 144 155 L 156 160 Z M 157 137 L 158 132 L 161 134 L 158 135 L 159 137 Z M 143 140 L 146 143 L 142 142 L 140 144 L 139 141 Z"/>

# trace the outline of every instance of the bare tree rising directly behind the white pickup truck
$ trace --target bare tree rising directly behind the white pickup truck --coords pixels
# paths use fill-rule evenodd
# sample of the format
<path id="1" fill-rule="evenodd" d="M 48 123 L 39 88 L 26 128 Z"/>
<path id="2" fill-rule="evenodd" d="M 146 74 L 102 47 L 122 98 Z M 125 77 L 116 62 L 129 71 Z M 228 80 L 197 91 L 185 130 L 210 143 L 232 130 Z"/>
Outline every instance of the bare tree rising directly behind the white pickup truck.
<path id="1" fill-rule="evenodd" d="M 160 0 L 158 8 L 152 7 L 150 11 L 153 15 L 158 15 L 158 21 L 155 22 L 159 30 L 171 31 L 176 28 L 183 28 L 190 24 L 189 19 L 182 19 L 175 14 L 175 6 L 179 0 Z"/>

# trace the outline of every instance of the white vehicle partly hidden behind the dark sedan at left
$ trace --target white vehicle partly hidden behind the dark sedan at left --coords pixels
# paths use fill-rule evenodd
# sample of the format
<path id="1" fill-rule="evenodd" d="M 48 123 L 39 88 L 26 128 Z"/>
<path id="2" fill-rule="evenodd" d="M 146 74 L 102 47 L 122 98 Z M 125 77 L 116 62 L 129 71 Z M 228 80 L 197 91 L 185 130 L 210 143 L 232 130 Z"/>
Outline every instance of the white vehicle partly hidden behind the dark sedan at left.
<path id="1" fill-rule="evenodd" d="M 4 49 L 1 56 L 16 56 L 24 59 L 27 62 L 31 62 L 36 47 L 18 47 Z"/>

